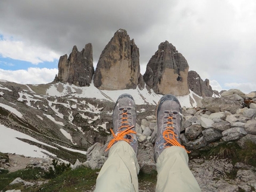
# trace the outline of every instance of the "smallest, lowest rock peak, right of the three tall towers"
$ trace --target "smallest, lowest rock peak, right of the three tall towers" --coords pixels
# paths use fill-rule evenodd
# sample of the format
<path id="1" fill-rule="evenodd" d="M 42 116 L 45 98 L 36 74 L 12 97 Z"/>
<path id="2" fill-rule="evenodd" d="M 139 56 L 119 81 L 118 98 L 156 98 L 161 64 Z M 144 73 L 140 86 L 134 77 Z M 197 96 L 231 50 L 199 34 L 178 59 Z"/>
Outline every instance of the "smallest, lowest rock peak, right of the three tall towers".
<path id="1" fill-rule="evenodd" d="M 188 86 L 194 93 L 202 97 L 211 97 L 213 95 L 213 89 L 211 89 L 210 81 L 202 80 L 200 75 L 195 71 L 189 71 L 188 73 Z"/>

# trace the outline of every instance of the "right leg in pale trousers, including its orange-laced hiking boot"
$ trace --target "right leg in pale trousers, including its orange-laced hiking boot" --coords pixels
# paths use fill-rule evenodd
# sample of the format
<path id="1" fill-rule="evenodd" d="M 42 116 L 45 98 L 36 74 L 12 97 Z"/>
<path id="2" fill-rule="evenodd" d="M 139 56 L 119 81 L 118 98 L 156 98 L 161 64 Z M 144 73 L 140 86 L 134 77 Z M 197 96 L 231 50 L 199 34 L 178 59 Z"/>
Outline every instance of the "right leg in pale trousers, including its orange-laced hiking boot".
<path id="1" fill-rule="evenodd" d="M 188 167 L 188 154 L 180 144 L 182 109 L 173 95 L 163 96 L 157 105 L 156 191 L 201 191 Z"/>

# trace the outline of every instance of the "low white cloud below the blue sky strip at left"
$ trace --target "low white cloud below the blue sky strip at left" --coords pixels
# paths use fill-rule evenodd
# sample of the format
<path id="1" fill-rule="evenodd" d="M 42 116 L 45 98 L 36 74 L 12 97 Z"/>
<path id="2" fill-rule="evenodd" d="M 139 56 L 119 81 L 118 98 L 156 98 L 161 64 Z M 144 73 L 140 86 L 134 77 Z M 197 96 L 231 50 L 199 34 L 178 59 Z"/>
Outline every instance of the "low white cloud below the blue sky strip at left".
<path id="1" fill-rule="evenodd" d="M 0 79 L 21 84 L 45 84 L 52 82 L 58 69 L 48 68 L 28 68 L 27 70 L 2 70 L 0 69 Z"/>

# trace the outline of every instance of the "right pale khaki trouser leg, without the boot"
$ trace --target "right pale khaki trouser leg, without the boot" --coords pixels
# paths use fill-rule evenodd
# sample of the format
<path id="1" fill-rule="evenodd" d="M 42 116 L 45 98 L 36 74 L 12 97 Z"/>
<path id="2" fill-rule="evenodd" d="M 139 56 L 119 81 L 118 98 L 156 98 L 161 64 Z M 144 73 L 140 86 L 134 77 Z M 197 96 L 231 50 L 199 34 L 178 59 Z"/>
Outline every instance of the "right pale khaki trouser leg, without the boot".
<path id="1" fill-rule="evenodd" d="M 163 150 L 157 160 L 156 191 L 201 191 L 188 167 L 188 154 L 182 147 Z"/>

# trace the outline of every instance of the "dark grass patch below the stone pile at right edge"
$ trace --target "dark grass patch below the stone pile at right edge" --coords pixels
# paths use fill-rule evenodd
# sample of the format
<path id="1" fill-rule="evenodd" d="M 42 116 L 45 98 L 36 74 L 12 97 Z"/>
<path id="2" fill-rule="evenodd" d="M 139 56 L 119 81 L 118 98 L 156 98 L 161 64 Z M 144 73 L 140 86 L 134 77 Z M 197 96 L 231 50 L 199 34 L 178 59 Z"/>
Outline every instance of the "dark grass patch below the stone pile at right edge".
<path id="1" fill-rule="evenodd" d="M 233 164 L 242 162 L 248 165 L 256 166 L 256 144 L 250 140 L 245 141 L 245 149 L 242 149 L 236 142 L 224 142 L 208 150 L 201 150 L 192 158 L 207 158 L 211 156 L 217 158 L 229 158 Z"/>

